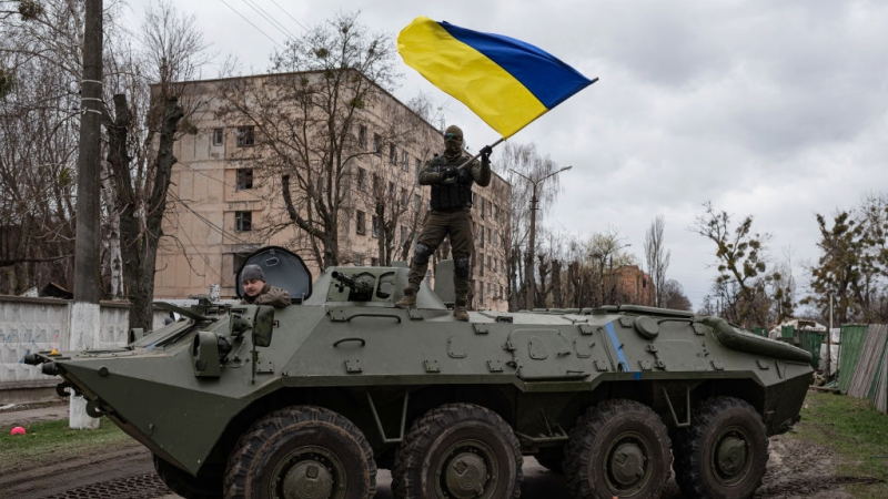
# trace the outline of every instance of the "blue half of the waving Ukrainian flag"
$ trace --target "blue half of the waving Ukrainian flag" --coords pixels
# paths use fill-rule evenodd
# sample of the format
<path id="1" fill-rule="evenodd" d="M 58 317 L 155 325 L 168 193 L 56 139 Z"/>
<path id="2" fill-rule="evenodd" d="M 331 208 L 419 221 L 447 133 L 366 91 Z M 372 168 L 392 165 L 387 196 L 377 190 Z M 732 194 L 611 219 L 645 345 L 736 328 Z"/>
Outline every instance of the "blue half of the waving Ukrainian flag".
<path id="1" fill-rule="evenodd" d="M 592 81 L 555 55 L 514 38 L 440 23 L 456 40 L 487 57 L 531 91 L 546 109 L 555 108 Z"/>

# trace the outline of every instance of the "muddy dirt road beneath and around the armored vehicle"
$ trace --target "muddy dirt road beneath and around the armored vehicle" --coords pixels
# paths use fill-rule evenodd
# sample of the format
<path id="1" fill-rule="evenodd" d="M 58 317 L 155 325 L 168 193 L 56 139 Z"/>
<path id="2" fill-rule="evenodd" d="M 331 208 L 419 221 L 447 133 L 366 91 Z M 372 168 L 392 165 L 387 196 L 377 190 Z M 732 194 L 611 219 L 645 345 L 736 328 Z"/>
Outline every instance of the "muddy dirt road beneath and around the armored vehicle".
<path id="1" fill-rule="evenodd" d="M 768 471 L 757 498 L 781 499 L 850 499 L 842 490 L 845 483 L 867 482 L 867 479 L 836 476 L 833 455 L 791 435 L 771 439 Z M 525 458 L 525 479 L 522 498 L 567 498 L 561 476 L 552 473 L 533 458 Z M 381 470 L 377 499 L 391 499 L 390 475 Z M 53 461 L 47 456 L 42 464 L 4 471 L 0 476 L 3 497 L 20 499 L 67 498 L 178 498 L 155 477 L 151 455 L 135 444 L 103 449 L 89 456 Z M 664 499 L 680 499 L 674 480 L 669 480 Z"/>

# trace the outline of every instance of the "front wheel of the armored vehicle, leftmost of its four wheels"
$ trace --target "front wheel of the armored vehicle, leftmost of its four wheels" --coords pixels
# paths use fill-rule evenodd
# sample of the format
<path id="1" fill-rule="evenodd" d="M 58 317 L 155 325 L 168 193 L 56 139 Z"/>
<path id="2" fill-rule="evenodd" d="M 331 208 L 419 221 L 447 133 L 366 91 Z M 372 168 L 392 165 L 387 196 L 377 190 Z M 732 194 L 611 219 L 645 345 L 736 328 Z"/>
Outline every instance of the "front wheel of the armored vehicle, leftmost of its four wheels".
<path id="1" fill-rule="evenodd" d="M 229 499 L 370 499 L 376 464 L 364 435 L 332 410 L 294 406 L 258 420 L 229 457 Z"/>

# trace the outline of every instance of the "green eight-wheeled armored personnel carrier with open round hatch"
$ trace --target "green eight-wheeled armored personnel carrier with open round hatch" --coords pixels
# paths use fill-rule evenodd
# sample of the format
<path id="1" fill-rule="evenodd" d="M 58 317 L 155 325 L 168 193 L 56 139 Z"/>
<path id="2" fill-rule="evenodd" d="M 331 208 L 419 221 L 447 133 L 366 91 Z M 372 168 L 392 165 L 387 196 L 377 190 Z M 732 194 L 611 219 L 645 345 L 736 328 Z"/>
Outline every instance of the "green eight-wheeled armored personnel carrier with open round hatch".
<path id="1" fill-rule="evenodd" d="M 377 467 L 396 498 L 514 498 L 523 456 L 573 498 L 658 497 L 672 470 L 687 498 L 748 498 L 811 378 L 807 352 L 718 317 L 606 306 L 462 323 L 425 284 L 395 308 L 407 268 L 312 283 L 280 247 L 246 264 L 295 303 L 201 299 L 123 348 L 26 359 L 186 498 L 372 498 Z"/>

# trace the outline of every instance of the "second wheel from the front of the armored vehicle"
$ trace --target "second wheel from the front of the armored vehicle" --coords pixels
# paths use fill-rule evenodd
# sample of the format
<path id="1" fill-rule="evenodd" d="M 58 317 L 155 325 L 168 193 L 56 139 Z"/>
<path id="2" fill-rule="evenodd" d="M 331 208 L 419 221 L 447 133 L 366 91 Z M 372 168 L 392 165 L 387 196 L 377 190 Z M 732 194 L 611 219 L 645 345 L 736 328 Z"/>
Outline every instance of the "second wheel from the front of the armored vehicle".
<path id="1" fill-rule="evenodd" d="M 512 499 L 521 495 L 524 458 L 496 413 L 448 404 L 426 413 L 395 452 L 392 493 L 398 499 Z"/>

